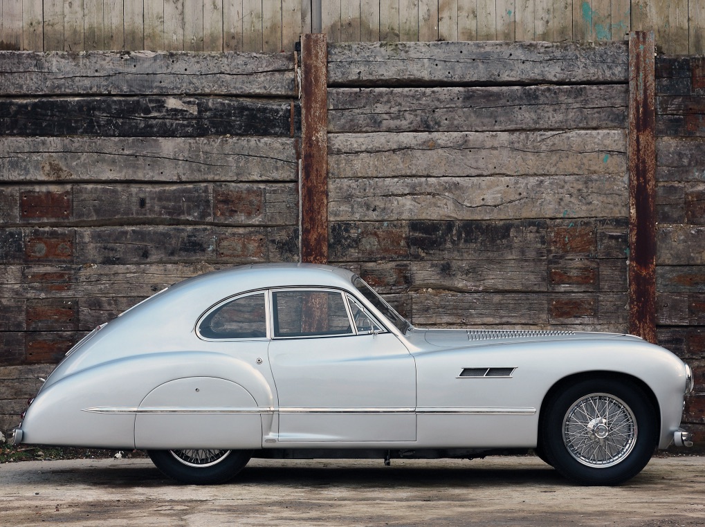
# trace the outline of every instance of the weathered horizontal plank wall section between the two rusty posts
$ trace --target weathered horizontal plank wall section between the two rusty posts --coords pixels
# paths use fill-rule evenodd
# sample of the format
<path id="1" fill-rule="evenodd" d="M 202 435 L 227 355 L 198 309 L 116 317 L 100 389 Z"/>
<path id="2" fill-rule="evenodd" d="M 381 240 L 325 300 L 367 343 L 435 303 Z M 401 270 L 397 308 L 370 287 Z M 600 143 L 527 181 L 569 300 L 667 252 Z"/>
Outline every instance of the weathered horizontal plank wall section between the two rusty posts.
<path id="1" fill-rule="evenodd" d="M 417 325 L 626 330 L 627 92 L 623 42 L 330 44 L 331 261 Z"/>

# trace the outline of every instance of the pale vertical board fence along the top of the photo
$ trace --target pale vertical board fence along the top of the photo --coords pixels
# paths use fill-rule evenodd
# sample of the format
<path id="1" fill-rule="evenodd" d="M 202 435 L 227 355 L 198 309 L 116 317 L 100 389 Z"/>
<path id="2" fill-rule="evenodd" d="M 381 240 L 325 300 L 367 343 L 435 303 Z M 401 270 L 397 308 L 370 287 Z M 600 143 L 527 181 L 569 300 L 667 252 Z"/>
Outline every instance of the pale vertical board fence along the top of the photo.
<path id="1" fill-rule="evenodd" d="M 0 49 L 288 51 L 330 42 L 623 40 L 705 54 L 695 0 L 0 0 Z M 314 13 L 320 18 L 314 20 Z"/>

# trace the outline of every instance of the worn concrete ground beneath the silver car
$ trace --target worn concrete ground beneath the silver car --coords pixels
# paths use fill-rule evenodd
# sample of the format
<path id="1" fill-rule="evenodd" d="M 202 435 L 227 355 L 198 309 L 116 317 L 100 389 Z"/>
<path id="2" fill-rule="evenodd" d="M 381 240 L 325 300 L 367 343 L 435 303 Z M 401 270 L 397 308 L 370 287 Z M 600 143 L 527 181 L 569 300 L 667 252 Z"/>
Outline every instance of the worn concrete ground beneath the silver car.
<path id="1" fill-rule="evenodd" d="M 148 459 L 0 465 L 0 526 L 705 526 L 705 457 L 579 487 L 536 457 L 250 461 L 232 483 L 170 481 Z"/>

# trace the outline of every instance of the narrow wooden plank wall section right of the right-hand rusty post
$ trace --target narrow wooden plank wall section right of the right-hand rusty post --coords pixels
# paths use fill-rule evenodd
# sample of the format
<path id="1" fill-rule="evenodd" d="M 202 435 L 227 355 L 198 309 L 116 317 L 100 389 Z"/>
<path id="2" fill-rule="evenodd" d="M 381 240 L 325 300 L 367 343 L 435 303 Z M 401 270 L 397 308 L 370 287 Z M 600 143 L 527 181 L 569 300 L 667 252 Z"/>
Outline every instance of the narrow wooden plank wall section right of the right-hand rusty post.
<path id="1" fill-rule="evenodd" d="M 705 435 L 705 58 L 656 58 L 658 341 L 694 367 Z"/>

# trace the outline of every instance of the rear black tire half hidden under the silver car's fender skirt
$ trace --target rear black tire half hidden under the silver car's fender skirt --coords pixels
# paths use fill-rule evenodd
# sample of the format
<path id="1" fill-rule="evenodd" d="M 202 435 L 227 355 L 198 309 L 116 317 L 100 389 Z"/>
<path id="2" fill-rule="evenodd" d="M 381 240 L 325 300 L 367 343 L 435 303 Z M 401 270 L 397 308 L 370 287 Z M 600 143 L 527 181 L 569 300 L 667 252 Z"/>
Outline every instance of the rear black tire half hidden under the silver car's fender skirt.
<path id="1" fill-rule="evenodd" d="M 248 450 L 147 450 L 165 476 L 189 485 L 218 485 L 233 479 L 247 461 Z"/>

